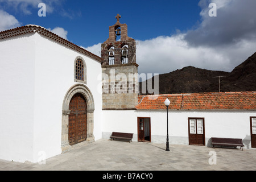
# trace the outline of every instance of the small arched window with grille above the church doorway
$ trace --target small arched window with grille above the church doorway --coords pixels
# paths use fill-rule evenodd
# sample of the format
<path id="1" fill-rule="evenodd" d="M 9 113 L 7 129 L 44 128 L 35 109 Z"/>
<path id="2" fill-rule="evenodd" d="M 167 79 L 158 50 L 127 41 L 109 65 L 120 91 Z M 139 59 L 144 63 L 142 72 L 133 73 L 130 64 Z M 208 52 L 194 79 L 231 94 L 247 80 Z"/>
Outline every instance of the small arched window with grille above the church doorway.
<path id="1" fill-rule="evenodd" d="M 74 65 L 75 82 L 86 84 L 86 64 L 81 56 L 77 56 Z"/>

